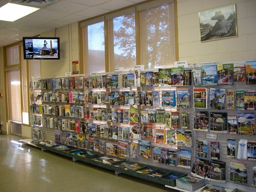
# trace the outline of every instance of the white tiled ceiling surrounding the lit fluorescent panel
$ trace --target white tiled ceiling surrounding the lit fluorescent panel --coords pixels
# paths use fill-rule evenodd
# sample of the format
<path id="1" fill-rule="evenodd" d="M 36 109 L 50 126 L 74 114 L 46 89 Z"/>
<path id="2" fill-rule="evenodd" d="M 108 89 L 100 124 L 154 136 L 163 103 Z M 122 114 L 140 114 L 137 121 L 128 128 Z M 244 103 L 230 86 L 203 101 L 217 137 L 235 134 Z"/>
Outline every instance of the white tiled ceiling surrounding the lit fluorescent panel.
<path id="1" fill-rule="evenodd" d="M 0 0 L 0 7 L 11 1 Z M 145 0 L 53 0 L 54 3 L 14 22 L 0 20 L 0 47 L 142 1 Z"/>

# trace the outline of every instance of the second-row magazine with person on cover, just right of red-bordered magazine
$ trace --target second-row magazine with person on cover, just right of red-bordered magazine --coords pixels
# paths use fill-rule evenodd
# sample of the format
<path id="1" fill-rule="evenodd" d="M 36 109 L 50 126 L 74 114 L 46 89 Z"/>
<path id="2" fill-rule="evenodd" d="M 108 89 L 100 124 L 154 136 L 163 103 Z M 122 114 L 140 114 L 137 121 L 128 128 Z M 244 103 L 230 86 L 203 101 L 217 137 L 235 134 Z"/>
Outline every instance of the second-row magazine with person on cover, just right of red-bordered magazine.
<path id="1" fill-rule="evenodd" d="M 210 88 L 210 109 L 222 110 L 225 108 L 225 89 Z"/>

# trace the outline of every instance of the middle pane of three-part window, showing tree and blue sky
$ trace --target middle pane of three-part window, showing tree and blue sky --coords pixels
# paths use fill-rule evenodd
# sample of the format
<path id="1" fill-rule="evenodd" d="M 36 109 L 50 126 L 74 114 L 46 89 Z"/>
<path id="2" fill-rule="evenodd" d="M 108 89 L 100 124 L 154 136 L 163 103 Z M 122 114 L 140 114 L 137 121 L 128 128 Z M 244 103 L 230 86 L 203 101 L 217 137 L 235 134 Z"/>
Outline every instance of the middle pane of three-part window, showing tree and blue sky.
<path id="1" fill-rule="evenodd" d="M 110 20 L 110 71 L 136 65 L 135 13 L 133 8 L 128 11 L 132 12 Z"/>

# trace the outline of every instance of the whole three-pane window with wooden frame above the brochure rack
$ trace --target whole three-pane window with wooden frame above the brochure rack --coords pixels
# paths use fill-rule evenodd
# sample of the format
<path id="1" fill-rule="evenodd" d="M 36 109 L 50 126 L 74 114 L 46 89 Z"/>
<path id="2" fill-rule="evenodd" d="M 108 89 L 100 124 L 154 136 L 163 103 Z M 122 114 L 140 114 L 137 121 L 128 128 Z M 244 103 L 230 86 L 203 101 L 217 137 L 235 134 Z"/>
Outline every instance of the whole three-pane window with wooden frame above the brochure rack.
<path id="1" fill-rule="evenodd" d="M 84 72 L 171 67 L 175 61 L 174 0 L 152 0 L 80 22 Z"/>

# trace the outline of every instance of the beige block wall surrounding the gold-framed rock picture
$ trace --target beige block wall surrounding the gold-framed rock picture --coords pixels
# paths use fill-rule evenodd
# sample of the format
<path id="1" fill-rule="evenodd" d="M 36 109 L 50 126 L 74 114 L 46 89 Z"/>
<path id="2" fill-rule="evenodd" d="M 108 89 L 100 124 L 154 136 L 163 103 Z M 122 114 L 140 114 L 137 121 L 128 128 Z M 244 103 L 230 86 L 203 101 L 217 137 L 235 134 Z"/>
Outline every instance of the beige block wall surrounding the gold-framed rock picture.
<path id="1" fill-rule="evenodd" d="M 200 42 L 198 12 L 236 4 L 238 36 Z M 256 59 L 256 0 L 178 0 L 179 60 L 228 62 Z"/>

